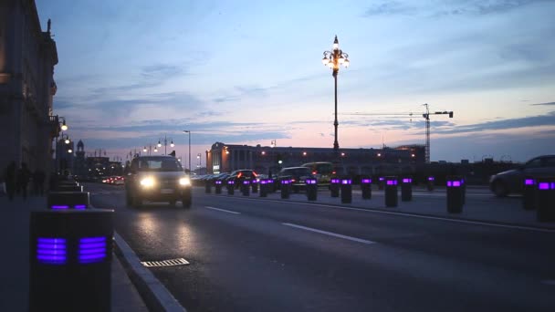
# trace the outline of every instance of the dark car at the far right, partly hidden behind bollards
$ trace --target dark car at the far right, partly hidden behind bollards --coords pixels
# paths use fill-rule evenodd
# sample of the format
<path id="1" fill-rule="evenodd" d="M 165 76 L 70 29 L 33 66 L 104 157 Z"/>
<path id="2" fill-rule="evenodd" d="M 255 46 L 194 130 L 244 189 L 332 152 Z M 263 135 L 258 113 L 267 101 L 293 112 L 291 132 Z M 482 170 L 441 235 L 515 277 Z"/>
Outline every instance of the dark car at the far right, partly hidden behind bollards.
<path id="1" fill-rule="evenodd" d="M 517 169 L 499 172 L 489 178 L 489 188 L 498 197 L 523 192 L 525 177 L 555 176 L 555 155 L 544 155 L 527 161 Z"/>

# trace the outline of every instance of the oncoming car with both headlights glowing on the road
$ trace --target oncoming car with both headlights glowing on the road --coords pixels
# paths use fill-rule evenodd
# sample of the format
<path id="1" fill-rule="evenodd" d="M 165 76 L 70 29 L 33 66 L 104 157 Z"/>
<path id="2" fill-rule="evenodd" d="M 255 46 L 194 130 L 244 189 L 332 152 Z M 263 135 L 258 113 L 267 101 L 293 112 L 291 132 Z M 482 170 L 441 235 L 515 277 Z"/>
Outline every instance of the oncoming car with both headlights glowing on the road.
<path id="1" fill-rule="evenodd" d="M 125 182 L 128 205 L 141 206 L 143 201 L 181 201 L 191 206 L 191 180 L 181 163 L 173 156 L 139 156 L 131 161 L 131 172 Z"/>

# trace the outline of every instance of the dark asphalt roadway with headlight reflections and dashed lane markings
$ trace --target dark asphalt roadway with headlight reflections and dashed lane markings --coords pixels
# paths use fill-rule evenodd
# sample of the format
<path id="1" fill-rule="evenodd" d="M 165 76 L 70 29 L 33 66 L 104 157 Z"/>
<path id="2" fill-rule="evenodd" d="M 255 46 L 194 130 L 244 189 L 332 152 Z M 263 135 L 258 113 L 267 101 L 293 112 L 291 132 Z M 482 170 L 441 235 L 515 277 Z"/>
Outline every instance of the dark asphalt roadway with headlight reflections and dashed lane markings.
<path id="1" fill-rule="evenodd" d="M 87 187 L 141 261 L 190 262 L 151 269 L 188 311 L 555 309 L 553 233 L 202 188 L 190 210 L 133 209 L 120 186 Z"/>

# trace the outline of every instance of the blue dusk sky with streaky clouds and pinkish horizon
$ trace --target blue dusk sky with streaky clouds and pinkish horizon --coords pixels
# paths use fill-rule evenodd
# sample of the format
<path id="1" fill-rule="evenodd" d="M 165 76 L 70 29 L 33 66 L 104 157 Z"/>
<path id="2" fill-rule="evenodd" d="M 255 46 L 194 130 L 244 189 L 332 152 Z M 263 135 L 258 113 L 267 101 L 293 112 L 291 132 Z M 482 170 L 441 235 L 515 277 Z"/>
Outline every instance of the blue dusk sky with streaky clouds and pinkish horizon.
<path id="1" fill-rule="evenodd" d="M 454 111 L 430 117 L 432 161 L 555 154 L 552 0 L 36 2 L 88 152 L 165 137 L 186 159 L 183 130 L 194 165 L 216 141 L 332 148 L 337 35 L 340 148 L 424 144 L 427 103 Z"/>

